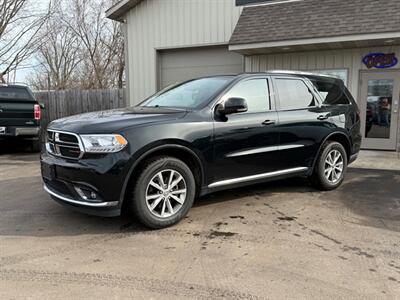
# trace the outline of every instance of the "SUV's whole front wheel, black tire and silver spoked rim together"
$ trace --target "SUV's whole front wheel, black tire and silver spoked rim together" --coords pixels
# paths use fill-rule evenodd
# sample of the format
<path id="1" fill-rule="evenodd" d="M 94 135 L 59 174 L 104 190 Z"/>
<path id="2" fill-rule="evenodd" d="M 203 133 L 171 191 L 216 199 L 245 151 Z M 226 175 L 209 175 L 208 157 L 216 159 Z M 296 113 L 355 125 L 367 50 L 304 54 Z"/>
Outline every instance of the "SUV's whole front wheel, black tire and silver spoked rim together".
<path id="1" fill-rule="evenodd" d="M 160 174 L 164 186 L 161 186 Z M 185 189 L 186 192 L 182 192 Z M 186 216 L 195 195 L 196 184 L 190 168 L 179 159 L 162 156 L 148 161 L 143 167 L 131 197 L 127 199 L 127 208 L 145 226 L 166 228 Z"/>

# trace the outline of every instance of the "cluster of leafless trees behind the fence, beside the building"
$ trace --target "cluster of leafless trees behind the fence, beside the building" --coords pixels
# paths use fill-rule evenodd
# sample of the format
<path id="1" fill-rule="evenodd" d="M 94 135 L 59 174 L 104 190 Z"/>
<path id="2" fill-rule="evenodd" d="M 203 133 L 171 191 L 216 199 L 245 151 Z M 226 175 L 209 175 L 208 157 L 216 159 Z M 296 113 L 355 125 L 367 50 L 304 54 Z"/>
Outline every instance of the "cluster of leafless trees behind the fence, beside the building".
<path id="1" fill-rule="evenodd" d="M 105 0 L 53 0 L 30 78 L 36 88 L 121 88 L 124 38 L 119 23 L 107 20 Z M 50 83 L 50 84 L 49 84 Z"/>

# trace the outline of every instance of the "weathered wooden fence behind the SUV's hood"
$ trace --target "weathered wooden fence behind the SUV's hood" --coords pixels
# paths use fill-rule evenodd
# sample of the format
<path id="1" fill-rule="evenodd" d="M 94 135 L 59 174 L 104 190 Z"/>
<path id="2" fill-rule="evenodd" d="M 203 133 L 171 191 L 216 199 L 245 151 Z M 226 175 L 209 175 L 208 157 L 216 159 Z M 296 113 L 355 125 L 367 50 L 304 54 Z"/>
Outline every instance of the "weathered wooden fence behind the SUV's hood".
<path id="1" fill-rule="evenodd" d="M 127 106 L 124 89 L 41 91 L 34 94 L 38 102 L 45 105 L 42 111 L 43 128 L 59 118 Z"/>

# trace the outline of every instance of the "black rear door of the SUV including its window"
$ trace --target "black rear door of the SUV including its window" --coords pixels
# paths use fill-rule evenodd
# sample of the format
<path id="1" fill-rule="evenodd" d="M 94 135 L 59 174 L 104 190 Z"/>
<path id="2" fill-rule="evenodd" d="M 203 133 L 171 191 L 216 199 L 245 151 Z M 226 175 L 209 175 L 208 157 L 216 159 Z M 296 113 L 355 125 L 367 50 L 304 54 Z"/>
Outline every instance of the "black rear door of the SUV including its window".
<path id="1" fill-rule="evenodd" d="M 318 96 L 303 79 L 279 76 L 273 83 L 279 106 L 280 168 L 310 167 L 335 116 L 319 106 Z"/>

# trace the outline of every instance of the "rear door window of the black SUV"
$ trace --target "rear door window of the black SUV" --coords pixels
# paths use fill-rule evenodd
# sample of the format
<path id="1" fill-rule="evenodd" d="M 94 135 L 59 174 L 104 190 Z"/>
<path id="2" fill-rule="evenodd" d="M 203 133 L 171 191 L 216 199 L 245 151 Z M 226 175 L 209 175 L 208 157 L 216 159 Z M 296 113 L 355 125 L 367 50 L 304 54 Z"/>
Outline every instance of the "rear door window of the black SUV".
<path id="1" fill-rule="evenodd" d="M 314 95 L 300 79 L 277 78 L 275 80 L 280 108 L 301 109 L 315 106 Z"/>

